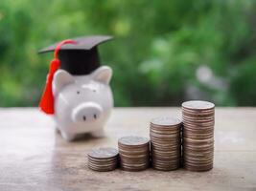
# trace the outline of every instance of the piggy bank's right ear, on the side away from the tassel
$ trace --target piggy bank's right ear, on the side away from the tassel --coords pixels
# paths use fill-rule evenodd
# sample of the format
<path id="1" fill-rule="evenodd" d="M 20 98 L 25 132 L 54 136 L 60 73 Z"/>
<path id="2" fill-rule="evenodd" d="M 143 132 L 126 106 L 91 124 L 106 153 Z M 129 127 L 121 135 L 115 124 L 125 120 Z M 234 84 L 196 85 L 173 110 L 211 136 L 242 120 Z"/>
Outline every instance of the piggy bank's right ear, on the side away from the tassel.
<path id="1" fill-rule="evenodd" d="M 100 81 L 105 84 L 108 84 L 110 82 L 111 77 L 112 69 L 108 66 L 102 66 L 92 74 L 92 78 L 94 80 Z"/>

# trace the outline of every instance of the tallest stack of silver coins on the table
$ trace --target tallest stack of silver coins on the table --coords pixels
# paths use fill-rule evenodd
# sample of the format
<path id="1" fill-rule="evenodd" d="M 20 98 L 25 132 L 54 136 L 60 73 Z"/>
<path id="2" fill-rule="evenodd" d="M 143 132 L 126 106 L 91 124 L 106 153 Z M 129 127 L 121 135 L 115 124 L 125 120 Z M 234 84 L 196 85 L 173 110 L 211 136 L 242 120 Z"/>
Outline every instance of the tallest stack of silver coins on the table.
<path id="1" fill-rule="evenodd" d="M 215 105 L 207 101 L 182 103 L 183 165 L 191 171 L 213 168 Z"/>

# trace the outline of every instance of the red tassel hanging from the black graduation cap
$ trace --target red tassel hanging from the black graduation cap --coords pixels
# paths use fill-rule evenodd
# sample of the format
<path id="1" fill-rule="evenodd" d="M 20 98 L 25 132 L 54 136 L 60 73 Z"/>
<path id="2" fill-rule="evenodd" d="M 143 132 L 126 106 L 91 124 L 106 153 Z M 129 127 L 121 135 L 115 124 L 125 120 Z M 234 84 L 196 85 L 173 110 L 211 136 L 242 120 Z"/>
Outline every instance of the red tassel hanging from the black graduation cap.
<path id="1" fill-rule="evenodd" d="M 54 78 L 54 74 L 58 71 L 58 68 L 60 67 L 60 60 L 58 59 L 58 52 L 60 50 L 60 47 L 67 43 L 76 44 L 76 41 L 64 40 L 57 45 L 55 54 L 54 54 L 55 58 L 51 61 L 49 73 L 47 74 L 44 92 L 39 102 L 39 108 L 45 114 L 48 114 L 48 115 L 55 114 L 55 97 L 54 97 L 53 88 L 52 88 L 53 78 Z"/>

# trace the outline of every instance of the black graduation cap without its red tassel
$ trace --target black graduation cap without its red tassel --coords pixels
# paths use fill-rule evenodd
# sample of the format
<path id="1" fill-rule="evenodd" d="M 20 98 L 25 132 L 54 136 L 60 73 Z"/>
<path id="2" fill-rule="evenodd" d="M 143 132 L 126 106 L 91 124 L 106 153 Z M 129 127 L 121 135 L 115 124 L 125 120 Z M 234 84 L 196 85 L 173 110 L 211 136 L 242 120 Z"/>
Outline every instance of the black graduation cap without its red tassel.
<path id="1" fill-rule="evenodd" d="M 58 53 L 60 69 L 70 74 L 90 74 L 97 69 L 101 62 L 97 46 L 111 40 L 111 36 L 96 35 L 71 38 L 77 44 L 61 46 Z M 58 43 L 40 50 L 38 53 L 54 52 Z"/>

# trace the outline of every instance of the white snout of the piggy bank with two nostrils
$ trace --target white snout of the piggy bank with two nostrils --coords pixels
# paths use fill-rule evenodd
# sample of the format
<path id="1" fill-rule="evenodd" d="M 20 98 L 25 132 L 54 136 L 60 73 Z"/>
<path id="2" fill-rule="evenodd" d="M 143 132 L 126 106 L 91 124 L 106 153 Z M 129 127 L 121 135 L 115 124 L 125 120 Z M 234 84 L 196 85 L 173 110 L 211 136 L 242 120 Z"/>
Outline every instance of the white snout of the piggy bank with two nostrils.
<path id="1" fill-rule="evenodd" d="M 94 102 L 86 102 L 73 109 L 72 119 L 75 122 L 86 122 L 97 120 L 101 117 L 103 108 Z"/>

